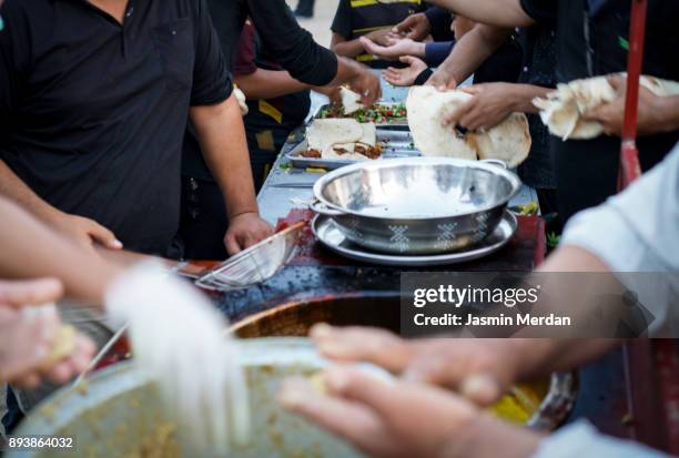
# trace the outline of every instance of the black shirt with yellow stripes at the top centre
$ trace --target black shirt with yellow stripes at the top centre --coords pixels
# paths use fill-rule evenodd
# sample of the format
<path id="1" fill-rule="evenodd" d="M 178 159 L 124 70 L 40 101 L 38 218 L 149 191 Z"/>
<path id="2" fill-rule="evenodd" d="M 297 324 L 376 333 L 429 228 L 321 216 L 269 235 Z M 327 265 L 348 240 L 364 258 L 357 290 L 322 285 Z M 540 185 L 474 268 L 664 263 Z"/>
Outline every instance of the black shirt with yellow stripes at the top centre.
<path id="1" fill-rule="evenodd" d="M 395 3 L 381 3 L 376 0 L 340 0 L 331 29 L 351 41 L 375 30 L 391 30 L 408 16 L 423 12 L 425 9 L 426 6 L 420 0 L 402 0 Z M 395 64 L 366 53 L 359 54 L 355 59 L 373 68 L 386 68 Z"/>

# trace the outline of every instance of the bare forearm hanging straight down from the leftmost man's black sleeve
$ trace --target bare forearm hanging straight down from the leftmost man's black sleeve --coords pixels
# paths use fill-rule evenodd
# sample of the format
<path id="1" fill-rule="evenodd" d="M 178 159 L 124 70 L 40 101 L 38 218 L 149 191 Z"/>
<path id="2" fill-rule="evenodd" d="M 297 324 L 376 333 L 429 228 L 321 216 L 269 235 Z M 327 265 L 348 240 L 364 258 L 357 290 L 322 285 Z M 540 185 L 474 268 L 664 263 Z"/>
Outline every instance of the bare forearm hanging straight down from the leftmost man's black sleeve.
<path id="1" fill-rule="evenodd" d="M 245 128 L 235 96 L 213 106 L 194 106 L 191 119 L 229 217 L 257 213 Z"/>

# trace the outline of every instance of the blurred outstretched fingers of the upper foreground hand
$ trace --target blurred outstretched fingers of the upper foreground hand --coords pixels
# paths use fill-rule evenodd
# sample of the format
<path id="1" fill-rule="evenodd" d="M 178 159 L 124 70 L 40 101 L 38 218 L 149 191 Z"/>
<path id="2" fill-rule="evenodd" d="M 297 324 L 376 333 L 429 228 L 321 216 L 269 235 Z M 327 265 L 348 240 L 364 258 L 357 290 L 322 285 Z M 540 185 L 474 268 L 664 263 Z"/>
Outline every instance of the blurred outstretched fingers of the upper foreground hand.
<path id="1" fill-rule="evenodd" d="M 368 362 L 392 373 L 403 372 L 413 357 L 405 340 L 382 329 L 320 324 L 311 329 L 310 337 L 318 352 L 331 359 Z"/>

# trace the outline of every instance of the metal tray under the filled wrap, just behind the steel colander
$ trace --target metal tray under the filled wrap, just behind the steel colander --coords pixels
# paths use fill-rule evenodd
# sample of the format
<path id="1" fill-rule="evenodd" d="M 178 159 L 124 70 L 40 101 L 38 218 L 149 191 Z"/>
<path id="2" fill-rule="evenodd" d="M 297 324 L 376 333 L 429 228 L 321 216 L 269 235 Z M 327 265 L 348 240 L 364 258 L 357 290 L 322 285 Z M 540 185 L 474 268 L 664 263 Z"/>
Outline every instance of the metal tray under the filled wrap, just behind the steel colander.
<path id="1" fill-rule="evenodd" d="M 415 150 L 413 145 L 413 135 L 408 131 L 378 129 L 377 142 L 382 144 L 382 159 L 417 157 L 422 155 L 419 151 Z M 302 153 L 306 150 L 308 150 L 308 143 L 304 140 L 285 154 L 285 157 L 287 157 L 295 169 L 313 167 L 336 170 L 356 163 L 356 161 L 342 161 L 336 159 L 304 157 Z"/>

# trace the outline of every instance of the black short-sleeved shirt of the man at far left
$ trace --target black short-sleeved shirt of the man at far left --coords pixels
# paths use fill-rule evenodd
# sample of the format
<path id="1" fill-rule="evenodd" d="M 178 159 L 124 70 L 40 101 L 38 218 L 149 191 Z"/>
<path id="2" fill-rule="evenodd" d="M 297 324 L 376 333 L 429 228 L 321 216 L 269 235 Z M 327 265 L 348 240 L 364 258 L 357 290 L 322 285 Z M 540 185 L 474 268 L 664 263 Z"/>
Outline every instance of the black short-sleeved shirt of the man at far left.
<path id="1" fill-rule="evenodd" d="M 232 92 L 204 1 L 130 0 L 123 26 L 85 0 L 0 14 L 0 157 L 55 207 L 164 254 L 189 109 Z"/>

